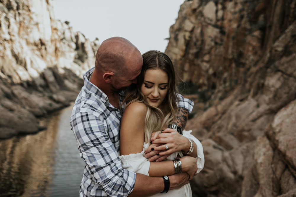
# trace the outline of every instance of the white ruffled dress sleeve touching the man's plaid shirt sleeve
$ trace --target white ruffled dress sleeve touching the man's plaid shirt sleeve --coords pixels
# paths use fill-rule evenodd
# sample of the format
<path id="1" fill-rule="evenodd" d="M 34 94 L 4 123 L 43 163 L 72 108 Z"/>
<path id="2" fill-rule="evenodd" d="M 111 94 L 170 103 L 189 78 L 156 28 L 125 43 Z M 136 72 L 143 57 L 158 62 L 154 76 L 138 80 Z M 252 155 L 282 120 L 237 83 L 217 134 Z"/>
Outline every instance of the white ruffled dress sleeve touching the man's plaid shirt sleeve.
<path id="1" fill-rule="evenodd" d="M 144 144 L 144 148 L 145 148 L 145 145 L 146 144 Z M 129 155 L 120 155 L 119 159 L 124 169 L 149 176 L 148 172 L 149 172 L 150 162 L 147 158 L 145 158 L 144 155 L 145 153 L 143 150 L 142 152 L 136 153 L 136 154 L 132 153 Z"/>

